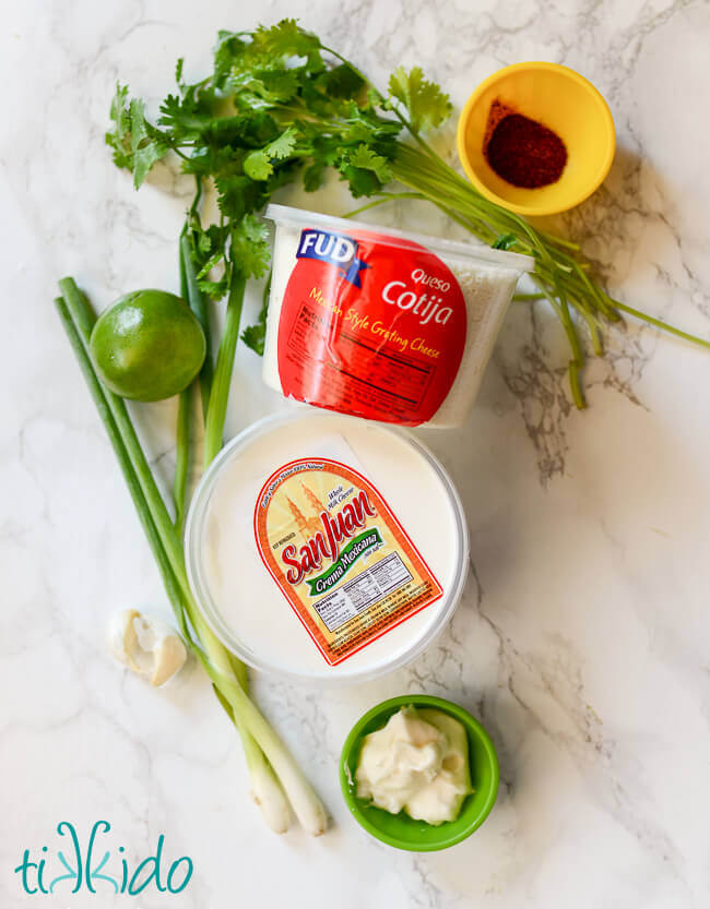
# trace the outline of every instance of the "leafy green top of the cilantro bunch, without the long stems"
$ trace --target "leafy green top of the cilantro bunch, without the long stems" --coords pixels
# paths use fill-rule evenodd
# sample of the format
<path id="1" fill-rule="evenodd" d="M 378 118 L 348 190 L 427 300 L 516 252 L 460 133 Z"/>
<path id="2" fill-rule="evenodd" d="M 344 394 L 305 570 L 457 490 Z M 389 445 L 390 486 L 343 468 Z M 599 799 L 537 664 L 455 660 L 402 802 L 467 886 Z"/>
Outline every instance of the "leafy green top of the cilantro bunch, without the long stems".
<path id="1" fill-rule="evenodd" d="M 188 85 L 182 60 L 177 93 L 161 105 L 155 123 L 144 103 L 118 86 L 106 141 L 119 167 L 132 171 L 138 189 L 168 153 L 196 179 L 196 198 L 185 234 L 202 292 L 229 295 L 239 276 L 261 276 L 269 252 L 256 215 L 274 190 L 303 180 L 321 186 L 334 168 L 355 198 L 382 191 L 393 179 L 391 163 L 406 125 L 439 125 L 451 105 L 418 68 L 392 76 L 386 98 L 351 63 L 324 48 L 293 20 L 253 33 L 221 32 L 211 75 Z M 218 224 L 203 226 L 199 203 L 205 184 L 216 192 Z M 216 273 L 216 277 L 215 277 Z M 265 308 L 244 340 L 263 352 Z"/>

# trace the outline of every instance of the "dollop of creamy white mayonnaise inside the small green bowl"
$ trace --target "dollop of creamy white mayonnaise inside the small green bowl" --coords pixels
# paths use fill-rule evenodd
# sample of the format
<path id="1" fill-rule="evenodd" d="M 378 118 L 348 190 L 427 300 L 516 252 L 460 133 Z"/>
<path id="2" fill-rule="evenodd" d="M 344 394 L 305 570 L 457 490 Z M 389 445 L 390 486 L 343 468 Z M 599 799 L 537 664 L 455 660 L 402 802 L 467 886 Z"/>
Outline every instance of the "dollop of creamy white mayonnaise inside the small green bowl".
<path id="1" fill-rule="evenodd" d="M 357 797 L 416 821 L 454 821 L 472 792 L 466 732 L 441 710 L 402 707 L 363 742 Z"/>

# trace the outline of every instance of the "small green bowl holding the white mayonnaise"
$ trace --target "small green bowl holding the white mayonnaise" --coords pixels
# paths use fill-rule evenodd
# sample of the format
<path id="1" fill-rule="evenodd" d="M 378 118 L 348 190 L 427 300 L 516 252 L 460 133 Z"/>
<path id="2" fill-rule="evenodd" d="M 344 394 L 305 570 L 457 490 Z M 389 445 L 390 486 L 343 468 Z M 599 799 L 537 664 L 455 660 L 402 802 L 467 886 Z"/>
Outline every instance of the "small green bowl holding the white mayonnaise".
<path id="1" fill-rule="evenodd" d="M 381 729 L 392 714 L 410 704 L 414 707 L 435 707 L 450 714 L 464 725 L 469 735 L 469 763 L 474 792 L 464 801 L 455 821 L 447 821 L 438 827 L 424 821 L 413 821 L 403 811 L 390 814 L 355 796 L 355 769 L 364 737 Z M 458 704 L 427 694 L 391 697 L 372 707 L 352 728 L 340 757 L 340 786 L 353 817 L 376 839 L 395 849 L 407 849 L 410 852 L 448 849 L 449 846 L 454 846 L 471 836 L 486 820 L 496 801 L 498 776 L 496 750 L 478 720 Z"/>

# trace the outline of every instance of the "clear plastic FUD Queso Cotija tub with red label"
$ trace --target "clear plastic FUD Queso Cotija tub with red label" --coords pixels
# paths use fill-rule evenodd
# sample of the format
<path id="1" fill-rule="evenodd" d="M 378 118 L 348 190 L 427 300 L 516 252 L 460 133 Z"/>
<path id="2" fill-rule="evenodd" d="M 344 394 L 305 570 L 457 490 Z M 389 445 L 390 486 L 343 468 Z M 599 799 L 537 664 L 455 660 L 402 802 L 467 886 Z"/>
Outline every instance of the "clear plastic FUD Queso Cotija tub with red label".
<path id="1" fill-rule="evenodd" d="M 341 414 L 461 426 L 533 260 L 284 205 L 267 217 L 264 382 Z"/>

